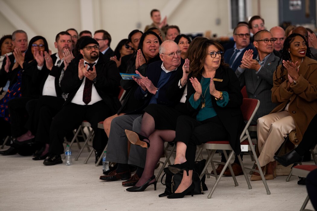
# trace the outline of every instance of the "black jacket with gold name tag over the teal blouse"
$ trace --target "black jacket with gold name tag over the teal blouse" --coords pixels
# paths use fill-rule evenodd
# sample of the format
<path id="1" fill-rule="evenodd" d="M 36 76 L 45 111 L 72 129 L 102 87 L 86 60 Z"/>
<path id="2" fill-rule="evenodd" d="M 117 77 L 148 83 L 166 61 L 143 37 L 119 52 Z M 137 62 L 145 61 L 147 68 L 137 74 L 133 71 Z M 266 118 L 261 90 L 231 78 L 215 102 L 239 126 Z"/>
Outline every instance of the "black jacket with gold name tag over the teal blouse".
<path id="1" fill-rule="evenodd" d="M 191 75 L 188 76 L 190 78 Z M 229 142 L 232 149 L 236 154 L 240 154 L 240 135 L 242 133 L 243 127 L 245 126 L 245 122 L 243 121 L 242 112 L 240 106 L 242 105 L 243 96 L 240 91 L 240 83 L 234 71 L 231 68 L 227 67 L 219 67 L 216 71 L 215 78 L 222 79 L 220 81 L 214 81 L 216 90 L 218 91 L 226 91 L 229 94 L 229 102 L 225 107 L 220 107 L 217 105 L 217 101 L 214 97 L 212 99 L 212 105 L 222 121 L 224 127 L 228 132 Z M 197 76 L 198 81 L 201 79 L 201 75 Z M 188 109 L 194 112 L 193 118 L 196 119 L 196 115 L 200 110 L 200 106 L 198 106 L 197 110 L 195 110 L 190 102 L 189 98 L 196 91 L 193 88 L 191 82 L 188 80 L 187 82 L 187 106 Z"/>

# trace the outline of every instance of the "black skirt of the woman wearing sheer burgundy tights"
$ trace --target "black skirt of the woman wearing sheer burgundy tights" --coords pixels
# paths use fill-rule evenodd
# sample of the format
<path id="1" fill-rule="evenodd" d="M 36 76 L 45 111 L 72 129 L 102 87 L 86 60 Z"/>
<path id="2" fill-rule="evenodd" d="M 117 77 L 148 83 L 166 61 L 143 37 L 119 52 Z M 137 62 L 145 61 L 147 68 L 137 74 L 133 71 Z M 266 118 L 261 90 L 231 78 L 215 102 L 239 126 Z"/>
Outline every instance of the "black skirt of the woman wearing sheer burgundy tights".
<path id="1" fill-rule="evenodd" d="M 178 116 L 189 115 L 185 103 L 179 102 L 174 107 L 160 104 L 150 104 L 144 111 L 151 115 L 157 130 L 176 130 Z"/>

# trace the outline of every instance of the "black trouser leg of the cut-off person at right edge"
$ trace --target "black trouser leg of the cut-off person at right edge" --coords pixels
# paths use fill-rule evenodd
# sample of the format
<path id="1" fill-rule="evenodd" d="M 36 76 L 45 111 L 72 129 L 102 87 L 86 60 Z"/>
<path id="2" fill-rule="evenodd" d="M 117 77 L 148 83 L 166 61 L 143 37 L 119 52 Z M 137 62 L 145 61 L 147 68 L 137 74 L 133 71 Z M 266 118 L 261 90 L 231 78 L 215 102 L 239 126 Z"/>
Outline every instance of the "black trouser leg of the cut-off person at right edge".
<path id="1" fill-rule="evenodd" d="M 312 149 L 317 144 L 317 135 L 316 135 L 316 128 L 317 128 L 317 115 L 314 116 L 312 121 L 310 121 L 301 143 L 295 148 L 295 151 L 303 156 L 305 152 Z"/>

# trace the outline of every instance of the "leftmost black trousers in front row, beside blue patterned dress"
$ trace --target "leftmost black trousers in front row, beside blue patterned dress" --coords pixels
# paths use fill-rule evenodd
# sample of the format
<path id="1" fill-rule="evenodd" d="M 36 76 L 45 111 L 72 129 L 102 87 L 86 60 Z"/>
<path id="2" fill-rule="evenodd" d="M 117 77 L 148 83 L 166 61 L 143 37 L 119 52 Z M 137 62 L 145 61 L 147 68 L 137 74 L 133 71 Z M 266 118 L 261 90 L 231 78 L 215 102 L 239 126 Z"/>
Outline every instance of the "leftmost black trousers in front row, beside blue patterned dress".
<path id="1" fill-rule="evenodd" d="M 27 102 L 32 99 L 34 99 L 34 97 L 17 97 L 8 102 L 12 137 L 19 137 L 27 131 L 24 127 L 28 119 L 28 112 L 25 106 Z"/>

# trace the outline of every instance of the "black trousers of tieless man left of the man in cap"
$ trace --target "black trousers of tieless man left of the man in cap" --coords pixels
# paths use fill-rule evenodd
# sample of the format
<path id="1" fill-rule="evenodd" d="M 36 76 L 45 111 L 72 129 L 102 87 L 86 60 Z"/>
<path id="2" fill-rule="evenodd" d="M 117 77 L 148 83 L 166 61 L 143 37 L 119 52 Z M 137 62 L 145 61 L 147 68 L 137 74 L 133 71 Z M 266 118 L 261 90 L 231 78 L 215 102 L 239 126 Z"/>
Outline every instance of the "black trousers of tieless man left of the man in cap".
<path id="1" fill-rule="evenodd" d="M 61 97 L 40 96 L 26 104 L 29 118 L 25 127 L 35 135 L 36 142 L 49 144 L 49 130 L 53 117 L 61 110 L 64 102 Z"/>

